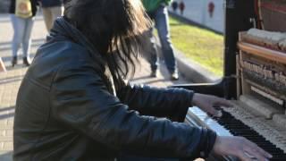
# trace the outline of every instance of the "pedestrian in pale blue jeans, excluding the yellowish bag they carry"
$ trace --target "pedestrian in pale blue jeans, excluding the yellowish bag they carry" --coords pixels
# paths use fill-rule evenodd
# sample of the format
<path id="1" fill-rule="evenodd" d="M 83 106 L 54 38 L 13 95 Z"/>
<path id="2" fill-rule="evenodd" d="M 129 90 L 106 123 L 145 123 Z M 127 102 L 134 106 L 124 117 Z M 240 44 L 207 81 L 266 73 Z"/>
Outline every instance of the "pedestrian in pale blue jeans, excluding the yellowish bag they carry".
<path id="1" fill-rule="evenodd" d="M 29 66 L 29 52 L 31 44 L 31 31 L 34 24 L 34 16 L 37 13 L 37 0 L 30 0 L 31 14 L 28 17 L 21 17 L 15 14 L 16 0 L 12 0 L 9 8 L 11 14 L 11 21 L 13 25 L 13 40 L 12 40 L 12 66 L 18 64 L 18 51 L 22 47 L 23 50 L 23 64 Z"/>

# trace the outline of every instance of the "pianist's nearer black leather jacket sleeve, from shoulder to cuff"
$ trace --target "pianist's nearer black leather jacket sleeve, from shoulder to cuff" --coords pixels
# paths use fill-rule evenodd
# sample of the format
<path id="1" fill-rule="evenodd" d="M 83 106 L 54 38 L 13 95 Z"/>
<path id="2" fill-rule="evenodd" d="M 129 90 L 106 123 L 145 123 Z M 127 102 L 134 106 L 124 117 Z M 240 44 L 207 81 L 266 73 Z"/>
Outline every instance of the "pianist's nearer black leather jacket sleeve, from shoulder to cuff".
<path id="1" fill-rule="evenodd" d="M 215 133 L 142 116 L 110 94 L 88 64 L 59 70 L 51 88 L 51 114 L 60 123 L 117 151 L 156 157 L 199 157 L 212 149 Z M 156 155 L 154 155 L 156 151 Z"/>

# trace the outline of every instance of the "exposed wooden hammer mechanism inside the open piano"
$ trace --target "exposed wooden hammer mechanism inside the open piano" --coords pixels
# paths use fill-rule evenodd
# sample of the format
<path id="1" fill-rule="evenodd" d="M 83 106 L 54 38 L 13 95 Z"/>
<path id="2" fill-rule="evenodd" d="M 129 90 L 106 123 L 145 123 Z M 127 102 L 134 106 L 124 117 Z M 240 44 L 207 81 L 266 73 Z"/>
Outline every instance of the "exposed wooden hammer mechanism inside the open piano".
<path id="1" fill-rule="evenodd" d="M 253 36 L 250 31 L 259 31 Z M 273 33 L 273 34 L 272 34 Z M 279 40 L 267 40 L 274 32 L 251 29 L 239 33 L 239 55 L 237 55 L 237 97 L 255 95 L 269 106 L 253 106 L 257 113 L 272 119 L 274 114 L 285 114 L 286 102 L 286 34 L 278 33 Z M 260 38 L 259 38 L 260 37 Z M 272 38 L 272 39 L 275 39 Z M 279 45 L 282 45 L 279 47 Z M 260 96 L 260 97 L 259 97 Z M 285 126 L 286 128 L 286 126 Z"/>

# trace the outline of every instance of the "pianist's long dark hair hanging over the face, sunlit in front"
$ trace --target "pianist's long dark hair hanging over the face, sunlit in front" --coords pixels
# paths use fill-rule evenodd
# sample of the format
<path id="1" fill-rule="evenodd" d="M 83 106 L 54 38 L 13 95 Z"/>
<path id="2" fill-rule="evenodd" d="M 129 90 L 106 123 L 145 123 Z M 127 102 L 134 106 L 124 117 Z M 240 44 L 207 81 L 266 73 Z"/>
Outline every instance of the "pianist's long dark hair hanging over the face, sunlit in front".
<path id="1" fill-rule="evenodd" d="M 70 0 L 64 15 L 105 57 L 114 80 L 135 72 L 150 21 L 140 0 Z"/>

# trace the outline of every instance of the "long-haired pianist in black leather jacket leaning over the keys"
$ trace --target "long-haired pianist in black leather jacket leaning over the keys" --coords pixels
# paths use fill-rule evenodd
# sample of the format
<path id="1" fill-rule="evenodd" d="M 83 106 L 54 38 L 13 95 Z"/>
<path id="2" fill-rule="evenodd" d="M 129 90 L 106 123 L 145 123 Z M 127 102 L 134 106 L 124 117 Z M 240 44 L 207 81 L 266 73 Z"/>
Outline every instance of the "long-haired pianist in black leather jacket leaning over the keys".
<path id="1" fill-rule="evenodd" d="M 66 4 L 19 89 L 13 160 L 197 158 L 210 151 L 258 160 L 267 153 L 240 137 L 221 137 L 184 121 L 189 106 L 217 114 L 228 101 L 187 89 L 123 80 L 135 70 L 150 21 L 139 0 Z"/>

